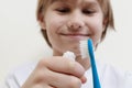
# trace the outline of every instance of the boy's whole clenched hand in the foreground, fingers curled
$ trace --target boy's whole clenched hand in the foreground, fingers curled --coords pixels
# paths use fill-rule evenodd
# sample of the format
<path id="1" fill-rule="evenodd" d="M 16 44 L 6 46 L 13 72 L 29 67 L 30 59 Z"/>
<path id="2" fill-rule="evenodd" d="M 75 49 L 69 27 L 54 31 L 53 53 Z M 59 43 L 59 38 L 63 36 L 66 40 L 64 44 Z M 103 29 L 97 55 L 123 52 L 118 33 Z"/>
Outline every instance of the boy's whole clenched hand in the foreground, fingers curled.
<path id="1" fill-rule="evenodd" d="M 84 67 L 62 56 L 41 59 L 22 88 L 80 88 Z"/>

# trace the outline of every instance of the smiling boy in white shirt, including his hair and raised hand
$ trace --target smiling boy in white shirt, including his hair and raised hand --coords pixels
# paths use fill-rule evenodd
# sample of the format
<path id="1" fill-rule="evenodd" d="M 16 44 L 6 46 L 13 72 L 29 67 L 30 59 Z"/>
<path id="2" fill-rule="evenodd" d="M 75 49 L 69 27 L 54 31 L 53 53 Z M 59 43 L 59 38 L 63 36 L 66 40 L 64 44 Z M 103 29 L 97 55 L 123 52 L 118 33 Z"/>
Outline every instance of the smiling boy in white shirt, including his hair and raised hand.
<path id="1" fill-rule="evenodd" d="M 92 88 L 89 58 L 82 59 L 79 41 L 91 38 L 94 46 L 113 26 L 109 0 L 38 0 L 37 21 L 53 48 L 51 58 L 14 72 L 10 88 Z M 76 62 L 62 55 L 72 51 Z M 131 88 L 131 75 L 97 62 L 102 88 Z"/>

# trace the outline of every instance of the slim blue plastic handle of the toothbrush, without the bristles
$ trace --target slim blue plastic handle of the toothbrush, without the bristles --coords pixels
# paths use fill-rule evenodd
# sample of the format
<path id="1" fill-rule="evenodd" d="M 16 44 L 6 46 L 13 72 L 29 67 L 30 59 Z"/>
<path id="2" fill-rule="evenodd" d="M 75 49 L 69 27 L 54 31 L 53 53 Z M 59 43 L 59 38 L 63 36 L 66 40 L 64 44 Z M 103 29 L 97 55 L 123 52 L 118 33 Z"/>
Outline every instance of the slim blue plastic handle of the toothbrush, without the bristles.
<path id="1" fill-rule="evenodd" d="M 91 64 L 91 70 L 92 70 L 94 88 L 101 88 L 99 77 L 98 77 L 97 67 L 96 67 L 91 40 L 88 40 L 88 48 L 89 48 L 90 64 Z"/>

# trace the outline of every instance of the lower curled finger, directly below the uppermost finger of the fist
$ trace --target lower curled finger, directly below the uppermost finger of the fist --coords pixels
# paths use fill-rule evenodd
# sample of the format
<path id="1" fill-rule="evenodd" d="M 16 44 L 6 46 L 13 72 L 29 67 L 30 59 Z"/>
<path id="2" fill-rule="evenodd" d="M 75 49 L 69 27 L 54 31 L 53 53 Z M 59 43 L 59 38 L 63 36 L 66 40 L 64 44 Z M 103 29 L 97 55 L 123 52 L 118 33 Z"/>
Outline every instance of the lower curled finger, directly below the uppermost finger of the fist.
<path id="1" fill-rule="evenodd" d="M 44 82 L 48 84 L 55 88 L 80 88 L 81 79 L 78 77 L 61 74 L 52 70 L 47 70 L 47 74 L 44 74 Z"/>

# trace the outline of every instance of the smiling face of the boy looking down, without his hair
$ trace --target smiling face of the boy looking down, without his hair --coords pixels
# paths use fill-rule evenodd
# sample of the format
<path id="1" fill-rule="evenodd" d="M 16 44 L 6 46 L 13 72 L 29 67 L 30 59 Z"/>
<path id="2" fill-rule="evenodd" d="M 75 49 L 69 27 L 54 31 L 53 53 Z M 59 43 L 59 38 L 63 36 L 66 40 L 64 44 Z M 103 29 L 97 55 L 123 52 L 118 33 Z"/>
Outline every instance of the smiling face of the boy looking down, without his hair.
<path id="1" fill-rule="evenodd" d="M 79 41 L 92 38 L 97 45 L 105 30 L 103 14 L 97 0 L 56 0 L 41 22 L 55 55 L 66 51 L 79 54 Z"/>

